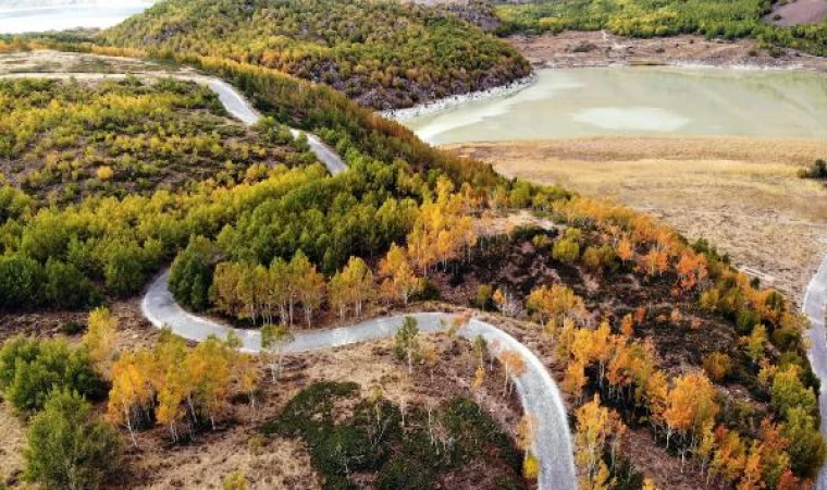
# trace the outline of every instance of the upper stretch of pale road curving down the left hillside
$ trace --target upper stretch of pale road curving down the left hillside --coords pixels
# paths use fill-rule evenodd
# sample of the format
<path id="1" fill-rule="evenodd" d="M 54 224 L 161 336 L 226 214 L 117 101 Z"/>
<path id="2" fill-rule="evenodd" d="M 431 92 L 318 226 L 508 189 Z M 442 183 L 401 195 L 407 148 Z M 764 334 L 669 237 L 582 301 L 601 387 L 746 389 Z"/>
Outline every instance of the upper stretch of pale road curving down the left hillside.
<path id="1" fill-rule="evenodd" d="M 50 79 L 123 79 L 126 76 L 131 76 L 124 73 L 10 73 L 0 75 L 0 78 L 50 78 Z M 181 74 L 157 74 L 157 73 L 138 73 L 132 76 L 137 76 L 143 79 L 160 79 L 160 78 L 175 78 L 185 82 L 195 82 L 199 85 L 203 85 L 212 90 L 218 97 L 224 109 L 238 121 L 247 125 L 256 124 L 261 114 L 250 105 L 250 102 L 232 85 L 224 82 L 221 78 L 202 75 L 181 75 Z M 316 158 L 321 161 L 331 175 L 338 175 L 347 170 L 347 164 L 338 157 L 338 155 L 330 149 L 318 136 L 310 133 L 305 133 L 299 130 L 292 128 L 291 134 L 294 138 L 297 138 L 300 134 L 307 134 L 307 143 L 310 146 L 310 150 L 316 155 Z"/>

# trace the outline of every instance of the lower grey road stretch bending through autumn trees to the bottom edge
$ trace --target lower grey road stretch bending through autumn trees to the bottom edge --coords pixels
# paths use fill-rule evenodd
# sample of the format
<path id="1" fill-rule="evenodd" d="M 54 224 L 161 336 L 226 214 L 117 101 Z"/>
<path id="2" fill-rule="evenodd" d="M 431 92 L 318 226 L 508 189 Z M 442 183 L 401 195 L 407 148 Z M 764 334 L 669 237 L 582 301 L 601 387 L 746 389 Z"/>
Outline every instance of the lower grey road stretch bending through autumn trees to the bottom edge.
<path id="1" fill-rule="evenodd" d="M 166 284 L 168 279 L 169 270 L 149 285 L 140 303 L 144 316 L 153 326 L 171 328 L 177 335 L 196 342 L 210 335 L 223 339 L 232 331 L 242 339 L 244 351 L 256 353 L 261 350 L 261 335 L 258 331 L 233 329 L 185 311 L 172 297 Z M 444 313 L 419 313 L 409 316 L 417 319 L 419 329 L 424 332 L 443 331 L 455 318 Z M 386 339 L 396 333 L 404 318 L 404 315 L 399 315 L 348 327 L 296 332 L 295 340 L 284 352 L 300 353 Z M 539 487 L 542 490 L 576 490 L 577 474 L 566 408 L 559 390 L 543 363 L 515 338 L 490 323 L 472 319 L 468 326 L 459 329 L 458 334 L 469 340 L 482 335 L 493 354 L 511 350 L 522 356 L 527 370 L 517 377 L 515 385 L 523 411 L 531 414 L 535 420 L 533 453 L 541 467 Z"/>

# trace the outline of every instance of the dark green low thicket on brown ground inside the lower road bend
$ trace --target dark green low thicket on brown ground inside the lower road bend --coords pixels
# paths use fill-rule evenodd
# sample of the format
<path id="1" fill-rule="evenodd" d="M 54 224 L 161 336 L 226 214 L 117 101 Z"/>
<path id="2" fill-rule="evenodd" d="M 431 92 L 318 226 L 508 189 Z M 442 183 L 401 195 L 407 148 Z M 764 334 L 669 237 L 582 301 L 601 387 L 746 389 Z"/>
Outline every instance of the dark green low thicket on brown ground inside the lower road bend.
<path id="1" fill-rule="evenodd" d="M 337 406 L 355 408 L 335 414 Z M 476 403 L 452 399 L 430 424 L 439 436 L 431 437 L 421 408 L 408 409 L 403 428 L 399 408 L 388 401 L 360 400 L 356 383 L 322 382 L 303 390 L 262 430 L 301 438 L 328 489 L 355 488 L 348 476 L 369 470 L 378 473 L 378 489 L 425 490 L 443 473 L 479 457 L 502 462 L 511 471 L 504 485 L 523 488 L 521 453 Z"/>

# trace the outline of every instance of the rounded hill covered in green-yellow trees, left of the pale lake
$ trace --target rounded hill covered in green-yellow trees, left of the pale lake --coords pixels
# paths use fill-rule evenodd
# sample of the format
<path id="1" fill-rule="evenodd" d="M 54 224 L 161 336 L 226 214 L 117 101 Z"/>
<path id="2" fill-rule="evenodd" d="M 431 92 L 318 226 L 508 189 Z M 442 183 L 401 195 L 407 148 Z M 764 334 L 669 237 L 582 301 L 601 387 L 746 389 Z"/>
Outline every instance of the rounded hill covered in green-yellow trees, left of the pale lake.
<path id="1" fill-rule="evenodd" d="M 394 1 L 169 0 L 99 40 L 273 68 L 375 109 L 489 88 L 530 70 L 480 28 Z"/>

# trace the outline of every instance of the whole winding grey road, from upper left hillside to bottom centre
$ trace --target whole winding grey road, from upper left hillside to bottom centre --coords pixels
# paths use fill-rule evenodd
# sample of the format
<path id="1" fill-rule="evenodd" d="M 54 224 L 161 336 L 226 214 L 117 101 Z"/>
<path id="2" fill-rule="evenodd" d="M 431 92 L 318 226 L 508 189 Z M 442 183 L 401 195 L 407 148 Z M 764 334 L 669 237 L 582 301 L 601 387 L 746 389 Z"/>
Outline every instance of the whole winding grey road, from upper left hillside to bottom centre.
<path id="1" fill-rule="evenodd" d="M 14 73 L 0 75 L 0 78 L 52 78 L 52 79 L 104 79 L 124 78 L 125 74 L 102 73 Z M 219 97 L 226 111 L 244 124 L 256 124 L 261 115 L 226 82 L 207 76 L 164 74 L 138 74 L 141 78 L 172 77 L 206 85 Z M 303 132 L 291 130 L 294 137 Z M 316 157 L 328 168 L 332 175 L 347 170 L 347 166 L 331 148 L 312 134 L 307 133 L 308 145 Z M 210 335 L 226 338 L 235 332 L 243 342 L 243 350 L 256 353 L 261 350 L 261 335 L 258 331 L 238 330 L 217 323 L 185 311 L 168 289 L 169 270 L 158 277 L 147 290 L 140 308 L 144 316 L 156 327 L 169 327 L 177 335 L 200 342 Z M 447 328 L 454 319 L 453 315 L 443 313 L 419 313 L 410 315 L 424 332 L 439 332 Z M 386 339 L 396 334 L 405 316 L 393 316 L 363 321 L 349 327 L 329 330 L 297 332 L 295 340 L 285 347 L 285 352 L 300 353 L 313 350 L 332 348 L 358 342 Z M 472 319 L 468 326 L 459 330 L 459 334 L 472 340 L 482 335 L 492 354 L 503 350 L 519 353 L 526 360 L 527 371 L 515 379 L 517 392 L 520 395 L 526 413 L 532 414 L 536 421 L 533 453 L 540 461 L 539 487 L 542 490 L 576 490 L 577 474 L 571 444 L 571 432 L 568 427 L 566 408 L 559 390 L 546 370 L 543 363 L 524 345 L 511 335 L 496 327 Z"/>

